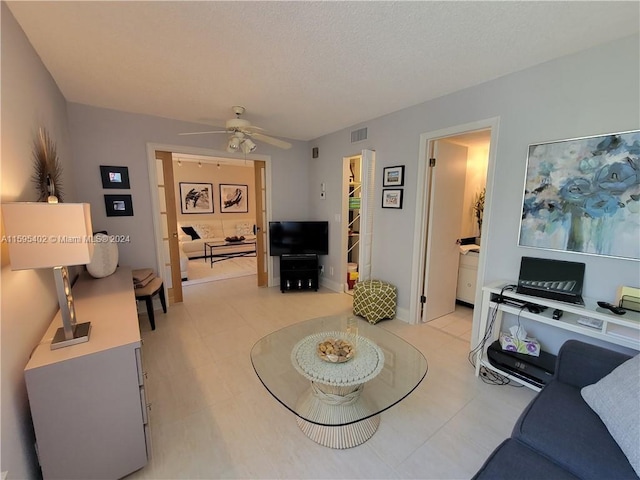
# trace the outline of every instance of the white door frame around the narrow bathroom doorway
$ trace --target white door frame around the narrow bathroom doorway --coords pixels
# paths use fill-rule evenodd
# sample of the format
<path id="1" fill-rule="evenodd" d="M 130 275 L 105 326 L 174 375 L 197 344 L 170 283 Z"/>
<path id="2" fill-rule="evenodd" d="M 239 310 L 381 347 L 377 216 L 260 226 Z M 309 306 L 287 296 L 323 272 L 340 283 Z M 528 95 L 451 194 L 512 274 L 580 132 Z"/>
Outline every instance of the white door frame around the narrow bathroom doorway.
<path id="1" fill-rule="evenodd" d="M 491 144 L 489 147 L 489 160 L 487 165 L 487 193 L 485 200 L 484 216 L 482 226 L 485 231 L 489 231 L 491 226 L 491 199 L 495 177 L 495 157 L 498 145 L 498 127 L 500 125 L 500 117 L 487 118 L 477 122 L 465 123 L 454 127 L 435 130 L 420 135 L 420 151 L 418 157 L 418 190 L 416 195 L 416 216 L 415 230 L 413 238 L 413 268 L 411 271 L 411 300 L 409 306 L 410 323 L 420 323 L 420 295 L 424 287 L 423 266 L 426 258 L 427 250 L 427 214 L 429 205 L 428 179 L 429 179 L 429 152 L 431 151 L 431 143 L 445 137 L 452 137 L 476 130 L 491 129 Z M 480 254 L 478 259 L 478 282 L 476 289 L 476 305 L 480 305 L 482 297 L 482 285 L 484 283 L 485 271 L 485 255 Z M 476 316 L 479 317 L 480 309 L 474 310 L 473 331 L 471 334 L 471 342 L 474 343 L 477 336 Z"/>

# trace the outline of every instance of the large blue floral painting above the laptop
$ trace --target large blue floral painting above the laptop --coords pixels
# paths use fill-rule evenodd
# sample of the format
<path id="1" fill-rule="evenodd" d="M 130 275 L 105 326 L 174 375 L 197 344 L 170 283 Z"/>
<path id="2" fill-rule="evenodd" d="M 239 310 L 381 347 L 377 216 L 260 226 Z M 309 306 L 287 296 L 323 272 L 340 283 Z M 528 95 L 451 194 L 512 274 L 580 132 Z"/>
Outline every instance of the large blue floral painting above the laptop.
<path id="1" fill-rule="evenodd" d="M 640 259 L 640 130 L 529 146 L 519 244 Z"/>

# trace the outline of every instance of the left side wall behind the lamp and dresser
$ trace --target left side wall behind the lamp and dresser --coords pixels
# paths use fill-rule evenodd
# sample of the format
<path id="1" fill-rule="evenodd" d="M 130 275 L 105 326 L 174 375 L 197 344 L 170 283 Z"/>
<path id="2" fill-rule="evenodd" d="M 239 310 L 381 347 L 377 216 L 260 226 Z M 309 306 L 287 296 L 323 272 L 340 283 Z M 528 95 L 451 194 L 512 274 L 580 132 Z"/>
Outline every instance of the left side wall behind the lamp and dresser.
<path id="1" fill-rule="evenodd" d="M 2 203 L 36 201 L 31 181 L 32 146 L 39 127 L 56 142 L 63 167 L 67 202 L 77 200 L 71 179 L 71 148 L 66 101 L 40 58 L 1 3 L 2 55 Z M 4 235 L 4 231 L 2 232 Z M 36 478 L 39 469 L 33 449 L 24 367 L 58 309 L 51 270 L 12 272 L 8 248 L 2 247 L 0 335 L 2 338 L 1 469 L 9 478 Z"/>

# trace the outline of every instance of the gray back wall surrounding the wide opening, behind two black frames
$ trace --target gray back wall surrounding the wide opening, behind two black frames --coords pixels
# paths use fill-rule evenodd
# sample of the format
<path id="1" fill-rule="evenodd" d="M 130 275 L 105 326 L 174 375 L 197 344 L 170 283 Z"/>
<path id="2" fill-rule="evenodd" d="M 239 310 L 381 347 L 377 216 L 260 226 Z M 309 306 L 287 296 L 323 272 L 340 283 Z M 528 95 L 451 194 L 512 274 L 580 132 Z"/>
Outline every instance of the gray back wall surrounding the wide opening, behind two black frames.
<path id="1" fill-rule="evenodd" d="M 199 147 L 224 152 L 226 135 L 178 136 L 179 132 L 209 130 L 166 118 L 137 115 L 104 108 L 70 103 L 69 128 L 74 164 L 74 182 L 78 198 L 91 204 L 95 230 L 130 235 L 130 243 L 118 246 L 120 264 L 133 268 L 156 264 L 151 193 L 147 162 L 147 143 Z M 290 150 L 259 143 L 256 153 L 271 156 L 273 185 L 272 213 L 275 219 L 305 218 L 308 215 L 306 179 L 310 151 L 306 142 L 293 141 Z M 133 217 L 107 217 L 100 165 L 129 167 Z M 301 180 L 302 179 L 302 180 Z"/>

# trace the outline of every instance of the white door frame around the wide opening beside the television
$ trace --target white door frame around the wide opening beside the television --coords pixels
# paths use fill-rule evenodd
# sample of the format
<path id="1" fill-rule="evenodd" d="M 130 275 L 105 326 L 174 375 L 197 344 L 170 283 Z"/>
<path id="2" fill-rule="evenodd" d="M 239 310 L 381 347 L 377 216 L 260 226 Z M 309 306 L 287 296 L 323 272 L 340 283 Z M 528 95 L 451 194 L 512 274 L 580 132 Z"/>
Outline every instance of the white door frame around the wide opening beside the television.
<path id="1" fill-rule="evenodd" d="M 164 273 L 164 256 L 162 255 L 162 221 L 160 218 L 160 198 L 158 196 L 158 171 L 156 169 L 156 150 L 172 153 L 184 153 L 189 155 L 203 155 L 208 157 L 223 157 L 237 160 L 245 160 L 245 155 L 234 154 L 227 151 L 212 150 L 209 148 L 187 147 L 184 145 L 167 145 L 162 143 L 147 143 L 147 166 L 149 168 L 149 190 L 151 192 L 151 209 L 153 211 L 153 230 L 156 246 L 156 271 Z M 262 160 L 266 166 L 266 201 L 267 222 L 271 220 L 271 156 L 249 154 L 246 160 Z M 274 285 L 273 281 L 273 257 L 268 259 L 269 280 L 268 286 Z"/>

